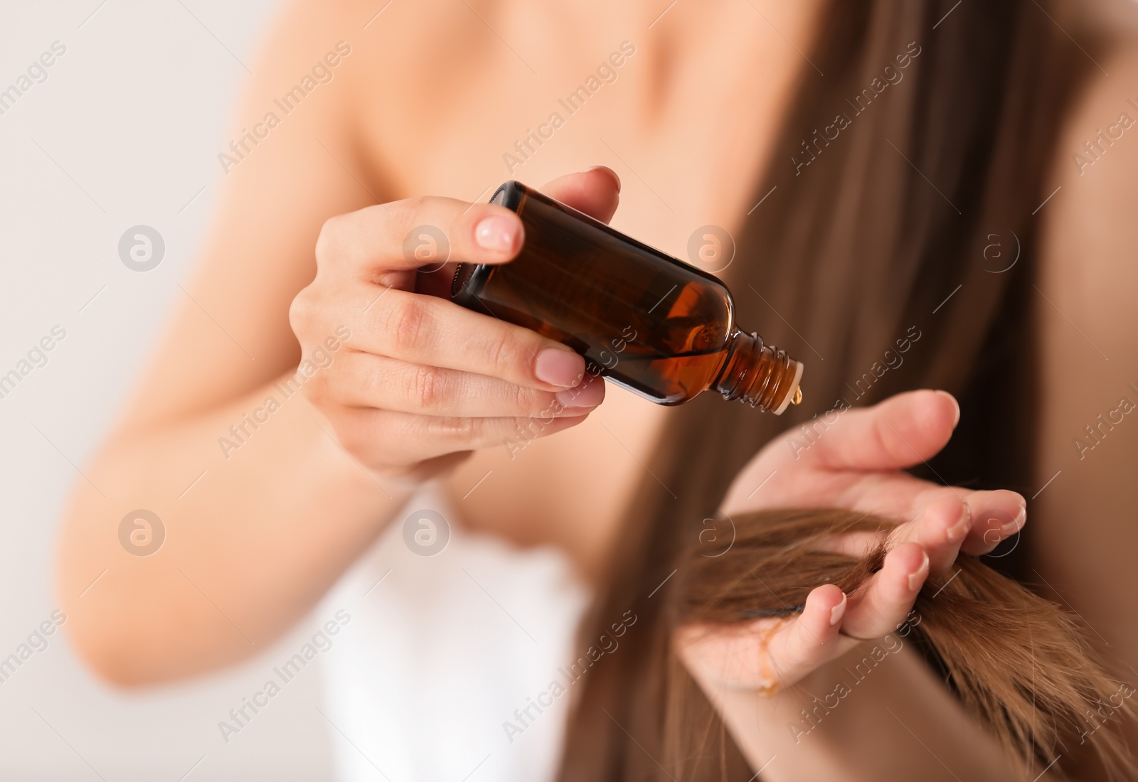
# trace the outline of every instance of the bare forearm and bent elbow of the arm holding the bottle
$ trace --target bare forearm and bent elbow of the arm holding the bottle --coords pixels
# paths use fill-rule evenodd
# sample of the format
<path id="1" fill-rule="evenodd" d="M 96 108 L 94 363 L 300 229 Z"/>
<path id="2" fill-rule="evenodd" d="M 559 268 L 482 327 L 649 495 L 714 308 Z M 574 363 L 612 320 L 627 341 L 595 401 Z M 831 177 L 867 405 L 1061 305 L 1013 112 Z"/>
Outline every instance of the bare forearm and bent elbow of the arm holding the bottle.
<path id="1" fill-rule="evenodd" d="M 84 657 L 122 683 L 172 679 L 253 654 L 311 608 L 411 491 L 330 435 L 302 394 L 266 384 L 112 442 L 60 541 L 59 600 Z M 164 527 L 149 556 L 119 536 L 140 508 Z"/>

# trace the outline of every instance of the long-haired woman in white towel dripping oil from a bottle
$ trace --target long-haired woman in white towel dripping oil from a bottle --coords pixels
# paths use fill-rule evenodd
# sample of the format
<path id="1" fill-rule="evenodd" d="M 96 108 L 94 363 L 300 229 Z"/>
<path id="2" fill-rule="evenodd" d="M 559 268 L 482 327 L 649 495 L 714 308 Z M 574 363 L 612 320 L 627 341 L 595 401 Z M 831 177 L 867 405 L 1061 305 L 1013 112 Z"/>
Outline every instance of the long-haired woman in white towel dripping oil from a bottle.
<path id="1" fill-rule="evenodd" d="M 352 744 L 345 776 L 550 776 L 567 719 L 563 779 L 668 774 L 653 715 L 637 705 L 658 681 L 641 662 L 677 547 L 717 509 L 848 507 L 905 524 L 905 542 L 864 599 L 819 588 L 802 621 L 769 640 L 777 697 L 715 675 L 737 639 L 685 648 L 729 727 L 725 754 L 737 759 L 737 744 L 769 780 L 897 779 L 900 767 L 1013 779 L 909 654 L 808 749 L 790 750 L 785 727 L 809 701 L 793 685 L 832 681 L 850 639 L 902 623 L 958 551 L 1014 534 L 1023 494 L 1034 496 L 1034 538 L 1013 555 L 1026 555 L 1022 572 L 1047 575 L 1110 639 L 1115 675 L 1138 648 L 1119 623 L 1129 571 L 1103 566 L 1133 542 L 1123 509 L 1135 489 L 1119 479 L 1138 461 L 1135 435 L 1083 435 L 1094 471 L 1070 450 L 1132 373 L 1135 315 L 1121 292 L 1135 271 L 1120 259 L 1138 151 L 1122 136 L 1083 140 L 1129 110 L 1138 61 L 1124 47 L 1090 60 L 1034 2 L 974 6 L 295 5 L 218 156 L 226 196 L 190 297 L 92 465 L 106 499 L 76 490 L 60 593 L 81 652 L 124 684 L 247 656 L 377 539 L 407 529 L 411 501 L 452 519 L 450 559 L 404 555 L 395 581 L 366 596 L 382 607 L 357 609 L 355 647 L 331 666 L 329 719 Z M 1075 172 L 1073 152 L 1094 161 Z M 563 175 L 597 161 L 609 167 Z M 545 192 L 605 221 L 622 186 L 617 227 L 677 256 L 701 226 L 737 236 L 739 251 L 708 271 L 735 292 L 743 324 L 809 359 L 809 404 L 785 418 L 719 399 L 658 408 L 578 384 L 583 363 L 561 346 L 432 298 L 445 269 L 415 272 L 438 257 L 406 252 L 409 235 L 413 248 L 415 230 L 434 226 L 451 260 L 508 263 L 520 225 L 483 202 L 508 176 L 549 181 Z M 302 351 L 320 349 L 320 368 L 296 382 Z M 303 393 L 282 393 L 290 381 Z M 916 388 L 947 389 L 962 406 L 925 391 L 867 407 Z M 519 440 L 559 393 L 575 406 Z M 932 482 L 898 472 L 914 466 Z M 445 497 L 415 496 L 426 481 Z M 119 544 L 131 508 L 170 530 L 156 556 Z M 360 566 L 372 586 L 395 556 L 377 546 Z M 104 568 L 98 590 L 69 597 Z M 583 639 L 625 612 L 636 625 L 572 685 L 571 708 L 511 718 L 519 738 L 504 722 L 528 701 L 511 690 L 486 708 L 487 698 L 513 687 L 511 668 L 576 658 L 570 568 L 594 594 Z M 525 634 L 504 646 L 478 635 L 483 622 L 417 647 L 431 622 L 461 619 L 460 584 L 505 614 L 504 594 L 531 600 L 527 615 L 549 622 L 541 642 L 514 619 Z M 417 610 L 426 618 L 406 618 Z M 406 654 L 427 647 L 435 671 Z M 470 667 L 450 669 L 456 660 Z M 477 725 L 412 702 L 422 688 L 445 692 L 431 673 L 478 693 L 447 701 Z M 404 701 L 399 676 L 411 679 Z M 409 727 L 407 714 L 436 727 Z M 426 730 L 443 731 L 448 751 L 417 743 Z M 1063 765 L 1090 779 L 1074 752 Z"/>

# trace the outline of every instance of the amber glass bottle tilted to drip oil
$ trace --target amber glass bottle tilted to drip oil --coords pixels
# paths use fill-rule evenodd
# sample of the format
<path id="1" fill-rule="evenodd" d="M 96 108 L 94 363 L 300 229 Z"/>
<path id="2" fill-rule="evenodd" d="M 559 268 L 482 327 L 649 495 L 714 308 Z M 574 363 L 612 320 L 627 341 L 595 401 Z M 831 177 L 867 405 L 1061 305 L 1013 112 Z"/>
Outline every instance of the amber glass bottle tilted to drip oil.
<path id="1" fill-rule="evenodd" d="M 574 348 L 586 372 L 660 405 L 715 389 L 782 413 L 802 364 L 735 324 L 731 293 L 683 264 L 518 182 L 494 197 L 526 241 L 509 264 L 460 264 L 451 299 Z"/>

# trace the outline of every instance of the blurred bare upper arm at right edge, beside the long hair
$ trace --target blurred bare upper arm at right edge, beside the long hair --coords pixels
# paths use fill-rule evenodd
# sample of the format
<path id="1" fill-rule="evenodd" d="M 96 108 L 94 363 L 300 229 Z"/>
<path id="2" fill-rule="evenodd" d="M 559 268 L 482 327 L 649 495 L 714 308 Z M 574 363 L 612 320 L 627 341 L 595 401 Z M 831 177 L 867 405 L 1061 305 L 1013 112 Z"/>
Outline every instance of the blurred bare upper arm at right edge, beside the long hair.
<path id="1" fill-rule="evenodd" d="M 1110 643 L 1108 658 L 1133 660 L 1138 50 L 1120 49 L 1099 61 L 1110 75 L 1092 70 L 1072 107 L 1047 192 L 1062 189 L 1040 210 L 1032 296 L 1040 340 L 1036 490 L 1041 491 L 1029 509 L 1025 540 L 1032 580 L 1046 581 L 1081 614 L 1089 639 Z M 1104 151 L 1095 159 L 1086 142 L 1099 131 L 1119 138 L 1098 141 Z"/>

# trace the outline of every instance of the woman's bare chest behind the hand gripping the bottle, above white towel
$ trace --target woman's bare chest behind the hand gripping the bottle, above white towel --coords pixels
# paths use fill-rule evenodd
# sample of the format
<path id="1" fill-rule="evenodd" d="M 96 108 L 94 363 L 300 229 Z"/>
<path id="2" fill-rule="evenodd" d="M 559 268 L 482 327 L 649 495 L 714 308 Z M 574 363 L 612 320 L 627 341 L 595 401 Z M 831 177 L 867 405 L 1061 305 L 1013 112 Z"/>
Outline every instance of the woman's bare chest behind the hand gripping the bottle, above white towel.
<path id="1" fill-rule="evenodd" d="M 410 78 L 393 84 L 381 63 L 369 64 L 371 169 L 390 198 L 485 200 L 505 180 L 539 186 L 603 164 L 622 183 L 613 226 L 694 260 L 693 233 L 734 233 L 753 206 L 792 88 L 810 67 L 787 38 L 806 49 L 813 16 L 765 2 L 769 18 L 748 3 L 682 5 L 655 23 L 607 8 L 591 24 L 587 8 L 554 18 L 555 9 L 503 7 L 493 19 L 471 15 L 446 67 L 406 67 Z M 553 28 L 563 34 L 533 34 Z M 467 524 L 560 544 L 587 572 L 637 482 L 652 480 L 646 465 L 668 413 L 610 385 L 575 430 L 476 455 L 452 494 Z"/>

